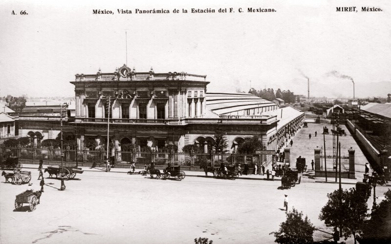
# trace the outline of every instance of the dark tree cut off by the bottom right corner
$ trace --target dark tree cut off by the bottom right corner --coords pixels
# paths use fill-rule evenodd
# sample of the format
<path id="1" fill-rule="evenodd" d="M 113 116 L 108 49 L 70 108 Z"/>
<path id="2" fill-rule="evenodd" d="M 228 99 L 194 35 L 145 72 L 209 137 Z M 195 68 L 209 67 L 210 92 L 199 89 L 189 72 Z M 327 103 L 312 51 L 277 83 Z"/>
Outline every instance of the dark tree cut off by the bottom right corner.
<path id="1" fill-rule="evenodd" d="M 391 243 L 391 189 L 385 195 L 371 218 L 366 221 L 362 228 L 360 244 L 389 244 Z"/>

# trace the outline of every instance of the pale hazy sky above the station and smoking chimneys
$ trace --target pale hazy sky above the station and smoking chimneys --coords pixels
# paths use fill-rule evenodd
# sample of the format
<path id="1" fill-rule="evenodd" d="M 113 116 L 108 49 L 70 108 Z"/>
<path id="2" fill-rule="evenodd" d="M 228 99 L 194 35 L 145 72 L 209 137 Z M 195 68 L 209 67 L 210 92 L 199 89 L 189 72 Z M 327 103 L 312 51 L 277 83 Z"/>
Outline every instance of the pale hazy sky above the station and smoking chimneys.
<path id="1" fill-rule="evenodd" d="M 339 6 L 358 12 L 337 12 Z M 365 6 L 383 11 L 361 12 Z M 136 8 L 170 13 L 136 14 Z M 352 80 L 356 98 L 391 93 L 389 0 L 3 0 L 0 33 L 0 96 L 73 96 L 75 74 L 114 72 L 125 63 L 139 72 L 207 75 L 208 92 L 247 92 L 251 84 L 306 96 L 308 77 L 311 97 L 353 97 Z"/>

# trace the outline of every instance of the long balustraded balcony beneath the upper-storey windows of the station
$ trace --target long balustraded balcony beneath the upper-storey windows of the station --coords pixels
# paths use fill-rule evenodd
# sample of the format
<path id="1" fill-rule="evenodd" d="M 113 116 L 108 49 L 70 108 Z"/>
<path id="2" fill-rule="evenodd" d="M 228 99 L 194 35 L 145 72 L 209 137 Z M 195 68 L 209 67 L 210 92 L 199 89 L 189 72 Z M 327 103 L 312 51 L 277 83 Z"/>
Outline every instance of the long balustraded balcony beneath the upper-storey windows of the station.
<path id="1" fill-rule="evenodd" d="M 76 118 L 76 123 L 107 124 L 107 118 Z M 166 119 L 110 119 L 110 124 L 167 125 Z"/>

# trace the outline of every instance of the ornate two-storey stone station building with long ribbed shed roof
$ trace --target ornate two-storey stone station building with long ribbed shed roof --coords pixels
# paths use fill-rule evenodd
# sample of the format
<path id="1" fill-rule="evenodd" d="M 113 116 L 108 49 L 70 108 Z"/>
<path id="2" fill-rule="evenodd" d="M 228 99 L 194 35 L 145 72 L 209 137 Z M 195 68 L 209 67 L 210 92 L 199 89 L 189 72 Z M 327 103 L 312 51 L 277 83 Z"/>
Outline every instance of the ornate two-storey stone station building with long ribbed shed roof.
<path id="1" fill-rule="evenodd" d="M 255 134 L 266 149 L 277 150 L 304 122 L 303 112 L 279 109 L 278 104 L 252 94 L 207 92 L 206 75 L 155 73 L 152 68 L 136 72 L 123 65 L 110 73 L 99 69 L 95 74 L 76 74 L 70 83 L 75 86 L 76 102 L 74 118 L 68 117 L 66 126 L 77 128 L 79 150 L 85 149 L 87 138 L 101 146 L 106 143 L 108 128 L 115 151 L 130 143 L 156 151 L 176 145 L 178 152 L 185 145 L 197 144 L 206 153 L 217 133 L 228 141 L 227 153 Z M 39 119 L 59 124 L 58 118 Z M 31 125 L 38 117 L 27 120 Z M 58 126 L 53 128 L 41 128 L 41 139 L 59 133 Z M 29 126 L 20 136 L 36 130 Z"/>

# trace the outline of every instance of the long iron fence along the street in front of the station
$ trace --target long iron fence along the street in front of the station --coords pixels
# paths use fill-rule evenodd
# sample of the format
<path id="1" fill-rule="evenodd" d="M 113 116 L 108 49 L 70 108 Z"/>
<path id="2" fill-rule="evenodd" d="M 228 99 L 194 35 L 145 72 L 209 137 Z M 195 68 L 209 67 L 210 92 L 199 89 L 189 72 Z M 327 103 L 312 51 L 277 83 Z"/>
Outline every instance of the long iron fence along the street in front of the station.
<path id="1" fill-rule="evenodd" d="M 32 159 L 45 161 L 60 161 L 61 149 L 47 149 L 47 148 L 7 148 L 0 146 L 0 155 L 6 152 L 12 152 L 20 159 Z M 79 163 L 99 163 L 104 162 L 107 158 L 106 151 L 91 151 L 91 150 L 63 150 L 63 160 L 65 162 Z M 256 154 L 203 154 L 203 153 L 170 153 L 170 152 L 128 152 L 115 151 L 109 152 L 114 156 L 116 164 L 131 164 L 133 161 L 136 164 L 149 164 L 152 161 L 155 165 L 183 165 L 183 166 L 220 166 L 221 163 L 242 166 L 247 163 L 250 167 L 256 163 L 261 165 L 261 156 Z M 271 155 L 264 156 L 267 163 L 271 163 Z"/>

